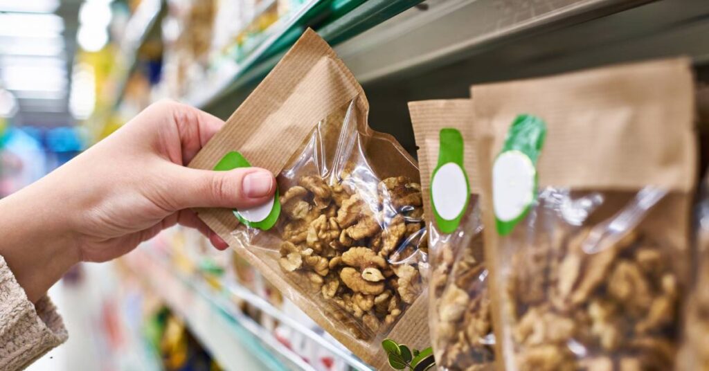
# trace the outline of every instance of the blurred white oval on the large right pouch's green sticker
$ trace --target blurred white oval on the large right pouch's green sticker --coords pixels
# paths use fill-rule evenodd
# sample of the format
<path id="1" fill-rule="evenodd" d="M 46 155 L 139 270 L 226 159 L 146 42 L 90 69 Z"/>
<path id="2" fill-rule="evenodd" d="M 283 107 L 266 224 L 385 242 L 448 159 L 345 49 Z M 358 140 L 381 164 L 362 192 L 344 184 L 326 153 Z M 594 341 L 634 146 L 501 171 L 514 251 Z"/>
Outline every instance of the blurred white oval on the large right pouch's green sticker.
<path id="1" fill-rule="evenodd" d="M 501 153 L 492 168 L 493 209 L 500 221 L 512 221 L 532 203 L 536 170 L 518 150 Z"/>

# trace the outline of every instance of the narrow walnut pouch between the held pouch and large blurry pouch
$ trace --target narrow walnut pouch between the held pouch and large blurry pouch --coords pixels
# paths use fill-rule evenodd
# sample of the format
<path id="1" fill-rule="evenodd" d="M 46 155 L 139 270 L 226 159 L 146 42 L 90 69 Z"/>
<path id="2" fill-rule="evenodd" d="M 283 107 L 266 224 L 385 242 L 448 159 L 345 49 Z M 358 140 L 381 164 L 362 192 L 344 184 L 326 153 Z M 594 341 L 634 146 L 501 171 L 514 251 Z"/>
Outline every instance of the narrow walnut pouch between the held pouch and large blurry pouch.
<path id="1" fill-rule="evenodd" d="M 476 140 L 469 99 L 408 104 L 429 236 L 429 332 L 438 370 L 493 369 Z"/>

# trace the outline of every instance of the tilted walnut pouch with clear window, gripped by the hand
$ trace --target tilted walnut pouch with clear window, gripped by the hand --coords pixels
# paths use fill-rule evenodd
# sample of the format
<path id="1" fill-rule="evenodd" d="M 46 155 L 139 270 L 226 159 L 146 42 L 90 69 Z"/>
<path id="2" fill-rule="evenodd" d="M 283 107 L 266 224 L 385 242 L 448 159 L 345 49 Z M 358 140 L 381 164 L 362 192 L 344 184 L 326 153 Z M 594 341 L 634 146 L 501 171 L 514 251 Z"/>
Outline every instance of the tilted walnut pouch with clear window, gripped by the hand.
<path id="1" fill-rule="evenodd" d="M 281 211 L 267 231 L 230 210 L 200 218 L 284 297 L 376 369 L 381 340 L 428 347 L 419 272 L 426 238 L 418 165 L 367 124 L 362 87 L 308 30 L 195 157 L 230 151 L 277 174 Z"/>

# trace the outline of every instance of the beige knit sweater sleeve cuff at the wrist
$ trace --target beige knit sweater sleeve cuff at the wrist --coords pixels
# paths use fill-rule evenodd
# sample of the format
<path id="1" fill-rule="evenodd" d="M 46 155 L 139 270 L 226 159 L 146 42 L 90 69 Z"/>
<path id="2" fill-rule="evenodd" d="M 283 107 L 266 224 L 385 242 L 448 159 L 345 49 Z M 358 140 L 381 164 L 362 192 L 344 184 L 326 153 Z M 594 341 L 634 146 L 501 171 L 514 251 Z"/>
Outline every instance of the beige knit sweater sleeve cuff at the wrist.
<path id="1" fill-rule="evenodd" d="M 66 340 L 49 297 L 32 304 L 0 256 L 0 370 L 21 370 Z"/>

